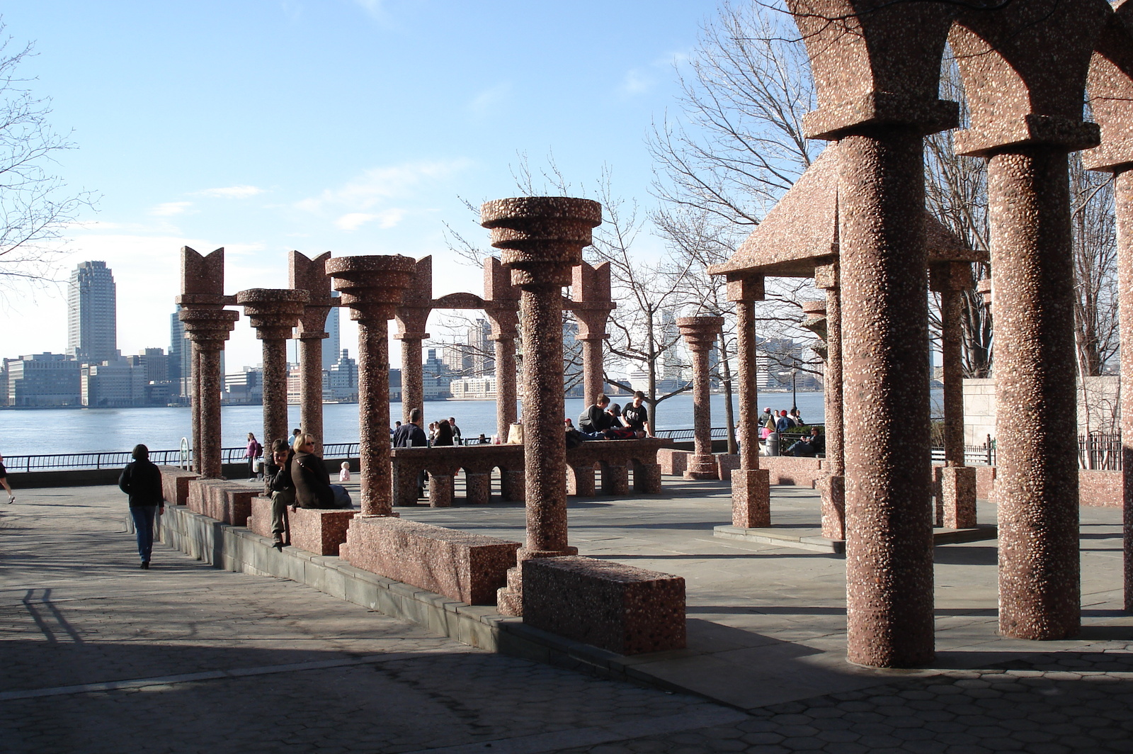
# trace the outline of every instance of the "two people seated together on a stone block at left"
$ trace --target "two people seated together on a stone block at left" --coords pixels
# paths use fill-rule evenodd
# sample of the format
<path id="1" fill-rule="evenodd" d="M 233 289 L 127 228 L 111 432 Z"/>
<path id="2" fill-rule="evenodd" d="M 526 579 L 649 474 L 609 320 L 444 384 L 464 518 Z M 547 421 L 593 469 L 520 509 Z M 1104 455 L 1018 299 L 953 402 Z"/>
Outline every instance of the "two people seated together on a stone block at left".
<path id="1" fill-rule="evenodd" d="M 282 550 L 286 544 L 287 509 L 350 508 L 350 493 L 341 484 L 331 484 L 330 472 L 315 452 L 315 435 L 298 432 L 287 440 L 272 442 L 272 466 L 266 477 L 272 495 L 272 544 Z M 340 480 L 349 478 L 349 465 L 343 463 Z"/>

